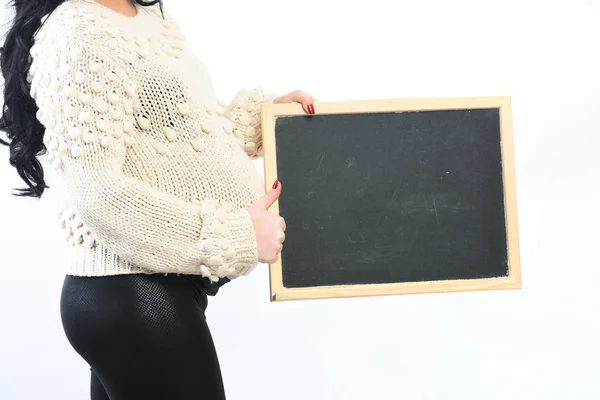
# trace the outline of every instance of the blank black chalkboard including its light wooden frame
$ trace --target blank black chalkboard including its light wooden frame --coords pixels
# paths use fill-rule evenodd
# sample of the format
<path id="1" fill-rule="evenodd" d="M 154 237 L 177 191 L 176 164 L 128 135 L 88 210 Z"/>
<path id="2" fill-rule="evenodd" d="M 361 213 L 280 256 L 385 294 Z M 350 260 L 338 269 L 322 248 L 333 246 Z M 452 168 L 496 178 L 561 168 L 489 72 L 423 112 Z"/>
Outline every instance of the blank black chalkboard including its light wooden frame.
<path id="1" fill-rule="evenodd" d="M 520 287 L 510 99 L 315 106 L 264 108 L 272 300 Z"/>

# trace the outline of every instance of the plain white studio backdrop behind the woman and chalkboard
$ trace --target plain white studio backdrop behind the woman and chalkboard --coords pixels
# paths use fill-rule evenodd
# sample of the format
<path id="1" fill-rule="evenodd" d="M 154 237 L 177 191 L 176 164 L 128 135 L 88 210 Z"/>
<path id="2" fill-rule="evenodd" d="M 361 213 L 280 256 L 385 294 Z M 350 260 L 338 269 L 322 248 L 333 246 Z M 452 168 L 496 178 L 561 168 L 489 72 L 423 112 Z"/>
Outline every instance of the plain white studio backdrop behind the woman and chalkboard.
<path id="1" fill-rule="evenodd" d="M 262 266 L 207 311 L 229 399 L 600 398 L 600 3 L 165 5 L 224 99 L 253 85 L 322 101 L 513 99 L 523 290 L 273 304 Z M 0 156 L 0 399 L 85 399 L 89 371 L 58 313 L 61 189 L 11 197 L 20 182 Z"/>

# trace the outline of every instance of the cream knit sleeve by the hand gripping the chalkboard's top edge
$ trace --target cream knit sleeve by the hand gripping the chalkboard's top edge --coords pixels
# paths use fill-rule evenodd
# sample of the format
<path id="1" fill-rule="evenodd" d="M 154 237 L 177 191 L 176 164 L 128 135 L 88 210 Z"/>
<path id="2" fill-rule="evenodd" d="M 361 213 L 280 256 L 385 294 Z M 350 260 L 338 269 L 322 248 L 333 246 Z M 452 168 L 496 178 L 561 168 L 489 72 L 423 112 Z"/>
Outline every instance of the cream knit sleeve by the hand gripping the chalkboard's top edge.
<path id="1" fill-rule="evenodd" d="M 253 160 L 264 155 L 261 105 L 272 104 L 276 97 L 275 93 L 266 92 L 260 86 L 242 89 L 225 107 L 226 115 L 233 122 L 233 135 Z"/>

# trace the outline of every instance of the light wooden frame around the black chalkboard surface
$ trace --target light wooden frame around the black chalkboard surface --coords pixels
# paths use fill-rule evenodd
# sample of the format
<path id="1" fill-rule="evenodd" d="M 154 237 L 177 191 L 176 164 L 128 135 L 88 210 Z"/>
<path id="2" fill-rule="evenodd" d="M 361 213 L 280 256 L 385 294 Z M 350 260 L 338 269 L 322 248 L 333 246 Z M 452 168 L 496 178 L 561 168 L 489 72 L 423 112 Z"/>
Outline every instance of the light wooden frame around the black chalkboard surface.
<path id="1" fill-rule="evenodd" d="M 504 204 L 507 229 L 508 276 L 485 279 L 286 288 L 283 286 L 280 257 L 277 262 L 270 265 L 269 269 L 271 301 L 521 289 L 517 194 L 510 97 L 351 100 L 341 102 L 318 102 L 315 108 L 317 114 L 320 115 L 499 108 Z M 277 179 L 275 119 L 278 116 L 305 115 L 305 112 L 298 103 L 263 105 L 262 111 L 265 189 L 269 190 L 269 182 L 273 182 Z M 279 214 L 279 202 L 276 201 L 270 210 Z"/>

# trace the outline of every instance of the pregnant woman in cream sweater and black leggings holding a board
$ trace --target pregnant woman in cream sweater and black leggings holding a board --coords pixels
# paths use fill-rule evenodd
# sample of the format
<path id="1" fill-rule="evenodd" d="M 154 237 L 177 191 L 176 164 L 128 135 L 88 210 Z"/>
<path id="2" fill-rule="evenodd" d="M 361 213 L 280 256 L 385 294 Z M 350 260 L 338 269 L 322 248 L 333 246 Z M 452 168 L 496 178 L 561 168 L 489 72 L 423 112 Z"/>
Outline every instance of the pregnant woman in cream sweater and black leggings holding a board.
<path id="1" fill-rule="evenodd" d="M 255 88 L 225 104 L 159 1 L 12 6 L 3 144 L 18 195 L 47 188 L 46 151 L 65 184 L 61 316 L 92 399 L 224 399 L 207 295 L 275 262 L 285 239 L 268 211 L 282 186 L 265 193 L 252 163 L 261 105 L 314 114 L 312 96 Z"/>

